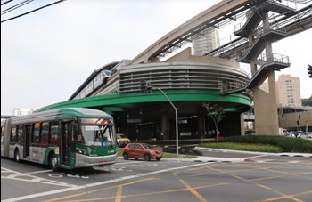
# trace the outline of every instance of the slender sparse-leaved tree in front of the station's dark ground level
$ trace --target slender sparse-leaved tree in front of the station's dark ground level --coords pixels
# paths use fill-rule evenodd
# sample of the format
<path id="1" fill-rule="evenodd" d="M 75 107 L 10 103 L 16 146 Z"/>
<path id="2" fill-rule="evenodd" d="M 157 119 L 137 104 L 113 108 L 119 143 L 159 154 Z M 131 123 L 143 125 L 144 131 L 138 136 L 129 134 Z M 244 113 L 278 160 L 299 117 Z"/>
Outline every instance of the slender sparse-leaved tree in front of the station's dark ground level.
<path id="1" fill-rule="evenodd" d="M 225 110 L 223 109 L 223 107 L 218 106 L 218 104 L 205 103 L 205 102 L 202 103 L 202 107 L 207 109 L 209 117 L 212 118 L 215 124 L 216 130 L 217 130 L 217 142 L 218 142 L 218 139 L 219 139 L 218 125 L 220 121 L 223 119 L 223 117 L 225 117 Z"/>

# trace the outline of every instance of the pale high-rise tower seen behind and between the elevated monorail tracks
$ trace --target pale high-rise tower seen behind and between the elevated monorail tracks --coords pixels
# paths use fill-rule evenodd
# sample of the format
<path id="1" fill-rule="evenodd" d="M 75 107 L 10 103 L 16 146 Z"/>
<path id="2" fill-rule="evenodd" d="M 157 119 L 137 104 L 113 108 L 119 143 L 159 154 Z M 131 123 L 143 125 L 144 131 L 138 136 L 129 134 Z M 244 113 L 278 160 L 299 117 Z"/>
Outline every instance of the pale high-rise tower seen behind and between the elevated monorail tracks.
<path id="1" fill-rule="evenodd" d="M 202 56 L 220 46 L 217 28 L 207 28 L 192 40 L 193 55 Z"/>

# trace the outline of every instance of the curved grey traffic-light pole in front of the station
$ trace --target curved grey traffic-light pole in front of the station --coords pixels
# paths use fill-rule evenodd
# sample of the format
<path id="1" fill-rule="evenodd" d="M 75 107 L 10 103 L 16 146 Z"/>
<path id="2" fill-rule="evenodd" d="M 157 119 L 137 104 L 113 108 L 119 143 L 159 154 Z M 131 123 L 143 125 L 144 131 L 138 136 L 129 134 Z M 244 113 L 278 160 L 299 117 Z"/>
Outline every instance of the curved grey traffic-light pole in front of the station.
<path id="1" fill-rule="evenodd" d="M 176 153 L 177 156 L 179 155 L 179 135 L 178 135 L 178 119 L 177 119 L 177 108 L 176 106 L 172 103 L 172 101 L 170 101 L 170 99 L 168 98 L 167 94 L 165 92 L 163 92 L 159 87 L 153 87 L 150 83 L 146 82 L 145 80 L 141 80 L 141 91 L 144 93 L 151 93 L 152 92 L 152 88 L 159 90 L 166 98 L 167 100 L 170 102 L 171 106 L 173 107 L 173 109 L 175 109 L 176 112 Z"/>

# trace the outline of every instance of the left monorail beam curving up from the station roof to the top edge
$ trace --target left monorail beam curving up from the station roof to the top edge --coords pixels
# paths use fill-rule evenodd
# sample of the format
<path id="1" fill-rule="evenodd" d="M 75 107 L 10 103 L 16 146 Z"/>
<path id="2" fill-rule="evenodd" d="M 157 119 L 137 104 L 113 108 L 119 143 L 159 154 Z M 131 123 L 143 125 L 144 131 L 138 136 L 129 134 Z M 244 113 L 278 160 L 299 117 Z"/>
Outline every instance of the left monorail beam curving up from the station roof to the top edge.
<path id="1" fill-rule="evenodd" d="M 224 25 L 226 20 L 236 20 L 242 17 L 253 4 L 260 4 L 265 0 L 224 0 L 209 9 L 187 20 L 144 50 L 131 61 L 130 64 L 158 61 L 158 56 L 165 56 L 174 49 L 192 42 L 191 37 L 209 27 Z"/>

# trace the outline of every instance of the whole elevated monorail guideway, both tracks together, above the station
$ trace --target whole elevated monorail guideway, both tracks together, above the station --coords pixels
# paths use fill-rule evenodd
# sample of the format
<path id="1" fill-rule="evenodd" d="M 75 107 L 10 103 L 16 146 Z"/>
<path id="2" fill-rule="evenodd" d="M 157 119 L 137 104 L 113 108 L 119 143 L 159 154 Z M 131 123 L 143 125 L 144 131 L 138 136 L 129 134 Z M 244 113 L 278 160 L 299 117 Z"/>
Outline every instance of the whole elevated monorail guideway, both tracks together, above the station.
<path id="1" fill-rule="evenodd" d="M 280 4 L 281 2 L 306 4 L 306 6 L 298 11 L 291 11 L 290 7 Z M 257 5 L 262 6 L 262 4 L 267 4 L 271 10 L 273 9 L 273 12 L 280 13 L 280 16 L 273 16 L 271 21 L 272 23 L 278 21 L 280 28 L 276 30 L 283 29 L 286 32 L 284 37 L 312 28 L 312 3 L 309 0 L 224 0 L 196 15 L 191 20 L 187 20 L 166 36 L 161 37 L 160 40 L 149 46 L 144 52 L 138 54 L 130 64 L 158 61 L 158 57 L 164 57 L 183 45 L 191 43 L 192 38 L 201 35 L 206 28 L 222 28 L 230 22 L 242 20 L 247 11 L 251 11 Z M 238 36 L 231 42 L 222 44 L 216 50 L 205 55 L 234 58 L 237 56 L 237 52 L 245 49 L 247 45 L 248 41 L 244 37 Z"/>

